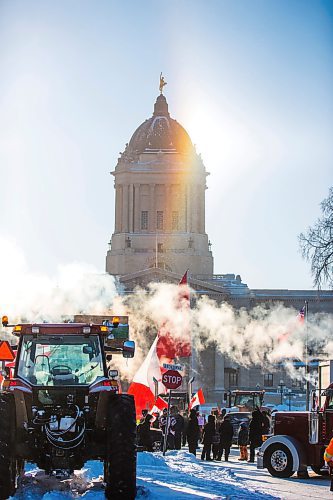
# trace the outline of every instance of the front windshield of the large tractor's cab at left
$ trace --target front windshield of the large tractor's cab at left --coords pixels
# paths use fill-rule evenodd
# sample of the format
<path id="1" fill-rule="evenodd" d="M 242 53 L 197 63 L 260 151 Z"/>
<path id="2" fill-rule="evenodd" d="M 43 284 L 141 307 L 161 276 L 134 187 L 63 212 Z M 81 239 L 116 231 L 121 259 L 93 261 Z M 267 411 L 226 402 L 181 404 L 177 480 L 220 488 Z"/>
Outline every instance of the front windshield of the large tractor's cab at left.
<path id="1" fill-rule="evenodd" d="M 104 377 L 99 337 L 24 335 L 17 375 L 35 385 L 91 384 Z"/>

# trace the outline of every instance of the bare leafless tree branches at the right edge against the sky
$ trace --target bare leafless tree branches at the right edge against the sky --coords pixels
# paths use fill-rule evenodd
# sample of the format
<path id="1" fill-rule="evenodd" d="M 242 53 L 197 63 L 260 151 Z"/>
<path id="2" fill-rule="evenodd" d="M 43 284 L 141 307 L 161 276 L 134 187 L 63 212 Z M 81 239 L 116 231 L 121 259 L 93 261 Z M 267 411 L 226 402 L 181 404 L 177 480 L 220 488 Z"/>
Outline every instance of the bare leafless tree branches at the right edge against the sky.
<path id="1" fill-rule="evenodd" d="M 311 263 L 314 285 L 333 288 L 333 187 L 320 206 L 322 216 L 298 238 L 303 257 Z"/>

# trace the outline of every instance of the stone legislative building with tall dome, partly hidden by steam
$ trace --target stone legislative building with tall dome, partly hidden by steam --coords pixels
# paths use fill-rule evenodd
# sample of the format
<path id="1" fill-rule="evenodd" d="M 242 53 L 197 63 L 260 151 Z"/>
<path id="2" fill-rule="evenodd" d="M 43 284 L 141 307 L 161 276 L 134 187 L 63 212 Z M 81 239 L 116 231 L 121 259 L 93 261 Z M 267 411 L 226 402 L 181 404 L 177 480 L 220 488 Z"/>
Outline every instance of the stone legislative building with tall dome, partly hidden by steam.
<path id="1" fill-rule="evenodd" d="M 197 295 L 235 309 L 281 303 L 299 311 L 333 314 L 333 292 L 251 289 L 239 275 L 214 274 L 211 244 L 205 229 L 207 172 L 201 156 L 182 125 L 171 118 L 162 91 L 153 114 L 133 133 L 112 172 L 115 186 L 114 232 L 106 256 L 106 272 L 124 290 L 150 282 L 179 283 L 188 269 L 188 282 Z M 266 392 L 286 388 L 304 391 L 304 382 L 291 379 L 283 365 L 270 371 L 244 367 L 211 346 L 200 353 L 194 388 L 203 388 L 206 401 L 220 404 L 225 391 L 259 387 Z M 301 363 L 299 363 L 300 365 Z M 200 366 L 205 369 L 201 370 Z M 314 367 L 315 368 L 315 367 Z"/>

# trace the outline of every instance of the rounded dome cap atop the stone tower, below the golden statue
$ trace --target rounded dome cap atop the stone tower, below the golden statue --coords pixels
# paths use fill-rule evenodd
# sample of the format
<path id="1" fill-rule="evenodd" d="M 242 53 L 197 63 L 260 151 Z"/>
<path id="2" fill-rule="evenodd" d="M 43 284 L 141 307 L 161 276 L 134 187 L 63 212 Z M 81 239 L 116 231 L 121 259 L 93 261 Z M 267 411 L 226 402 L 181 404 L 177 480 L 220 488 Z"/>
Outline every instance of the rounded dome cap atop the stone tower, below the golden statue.
<path id="1" fill-rule="evenodd" d="M 153 116 L 136 129 L 126 149 L 126 152 L 136 154 L 157 151 L 189 153 L 194 150 L 184 127 L 170 118 L 168 103 L 162 94 L 156 99 Z"/>

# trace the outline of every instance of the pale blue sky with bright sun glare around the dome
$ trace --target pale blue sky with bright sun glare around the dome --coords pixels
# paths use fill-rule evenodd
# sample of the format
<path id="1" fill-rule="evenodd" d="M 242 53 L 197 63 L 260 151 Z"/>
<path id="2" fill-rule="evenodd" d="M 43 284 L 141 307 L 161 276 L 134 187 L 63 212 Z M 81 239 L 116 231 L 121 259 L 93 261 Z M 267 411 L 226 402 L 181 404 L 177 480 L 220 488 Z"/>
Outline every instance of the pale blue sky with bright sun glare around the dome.
<path id="1" fill-rule="evenodd" d="M 0 1 L 0 229 L 35 272 L 104 271 L 109 172 L 153 111 L 207 170 L 215 273 L 311 288 L 297 235 L 333 178 L 330 1 Z"/>

